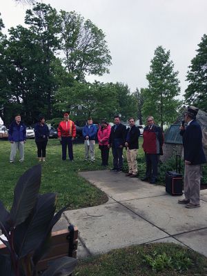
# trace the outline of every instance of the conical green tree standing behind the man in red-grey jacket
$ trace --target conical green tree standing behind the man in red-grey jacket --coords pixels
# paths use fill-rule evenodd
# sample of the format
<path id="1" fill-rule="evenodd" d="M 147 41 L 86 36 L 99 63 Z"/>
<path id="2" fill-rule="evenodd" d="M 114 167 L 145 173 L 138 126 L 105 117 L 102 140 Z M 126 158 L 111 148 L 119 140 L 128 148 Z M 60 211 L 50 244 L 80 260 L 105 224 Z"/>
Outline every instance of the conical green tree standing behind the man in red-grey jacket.
<path id="1" fill-rule="evenodd" d="M 150 72 L 146 75 L 148 89 L 144 91 L 143 115 L 152 115 L 158 124 L 170 124 L 177 117 L 177 110 L 181 104 L 175 96 L 179 95 L 178 72 L 174 71 L 174 63 L 170 61 L 170 51 L 162 46 L 155 50 L 155 57 L 151 60 Z"/>

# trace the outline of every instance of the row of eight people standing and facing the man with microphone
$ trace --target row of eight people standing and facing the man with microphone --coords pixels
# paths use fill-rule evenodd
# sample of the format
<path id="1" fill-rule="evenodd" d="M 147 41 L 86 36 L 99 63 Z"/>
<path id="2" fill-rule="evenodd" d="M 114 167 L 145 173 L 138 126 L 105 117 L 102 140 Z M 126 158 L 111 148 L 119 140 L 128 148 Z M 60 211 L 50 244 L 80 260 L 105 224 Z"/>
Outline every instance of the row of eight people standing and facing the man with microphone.
<path id="1" fill-rule="evenodd" d="M 114 126 L 107 121 L 101 121 L 99 128 L 93 124 L 92 118 L 88 118 L 86 126 L 83 127 L 85 160 L 95 161 L 95 139 L 98 138 L 101 150 L 101 166 L 108 166 L 109 150 L 112 148 L 113 168 L 112 172 L 121 172 L 123 169 L 123 149 L 126 148 L 128 161 L 128 173 L 126 176 L 137 176 L 137 150 L 139 148 L 140 131 L 135 126 L 135 119 L 128 120 L 129 128 L 121 124 L 120 117 L 115 116 Z M 37 157 L 39 161 L 46 161 L 46 146 L 48 144 L 49 129 L 45 118 L 39 117 L 39 122 L 34 126 L 35 142 L 37 144 Z M 69 119 L 68 113 L 63 115 L 63 121 L 59 123 L 58 139 L 62 147 L 62 160 L 73 161 L 72 140 L 76 137 L 75 123 Z M 155 126 L 153 117 L 148 117 L 148 126 L 144 128 L 144 152 L 146 153 L 146 177 L 150 183 L 157 181 L 158 155 L 161 154 L 163 135 L 161 128 Z M 26 126 L 21 122 L 21 116 L 16 115 L 10 124 L 8 140 L 11 143 L 10 163 L 14 162 L 17 149 L 19 149 L 20 160 L 24 159 L 24 144 L 26 143 Z"/>

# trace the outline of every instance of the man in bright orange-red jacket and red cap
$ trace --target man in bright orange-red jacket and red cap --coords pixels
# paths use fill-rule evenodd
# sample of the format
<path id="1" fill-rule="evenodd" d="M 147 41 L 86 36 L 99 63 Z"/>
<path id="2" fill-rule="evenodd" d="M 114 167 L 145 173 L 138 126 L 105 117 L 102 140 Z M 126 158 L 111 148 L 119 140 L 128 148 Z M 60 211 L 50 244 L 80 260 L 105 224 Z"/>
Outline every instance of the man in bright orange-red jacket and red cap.
<path id="1" fill-rule="evenodd" d="M 70 161 L 73 161 L 72 140 L 76 137 L 76 128 L 74 122 L 69 119 L 68 113 L 64 114 L 64 119 L 59 123 L 57 132 L 58 139 L 61 141 L 62 145 L 62 160 L 66 160 L 66 151 L 68 146 L 69 159 Z"/>

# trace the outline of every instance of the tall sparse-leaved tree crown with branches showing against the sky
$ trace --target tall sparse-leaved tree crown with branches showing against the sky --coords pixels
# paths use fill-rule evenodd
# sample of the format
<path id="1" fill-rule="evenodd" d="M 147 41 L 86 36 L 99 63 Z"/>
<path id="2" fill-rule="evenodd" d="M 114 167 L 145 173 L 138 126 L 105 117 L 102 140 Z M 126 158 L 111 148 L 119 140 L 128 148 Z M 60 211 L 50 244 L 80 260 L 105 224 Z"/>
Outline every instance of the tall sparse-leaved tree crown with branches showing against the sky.
<path id="1" fill-rule="evenodd" d="M 103 31 L 76 12 L 60 12 L 61 49 L 68 72 L 77 80 L 109 72 L 111 57 Z"/>

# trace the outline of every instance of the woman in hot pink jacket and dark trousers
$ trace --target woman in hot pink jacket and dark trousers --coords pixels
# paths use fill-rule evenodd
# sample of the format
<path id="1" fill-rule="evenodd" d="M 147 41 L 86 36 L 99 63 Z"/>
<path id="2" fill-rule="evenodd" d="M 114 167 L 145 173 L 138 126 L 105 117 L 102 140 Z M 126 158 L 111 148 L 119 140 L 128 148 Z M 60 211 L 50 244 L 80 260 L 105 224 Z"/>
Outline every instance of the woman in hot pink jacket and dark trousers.
<path id="1" fill-rule="evenodd" d="M 101 150 L 101 166 L 108 166 L 108 139 L 110 136 L 110 125 L 106 121 L 101 121 L 98 131 L 99 149 Z"/>

